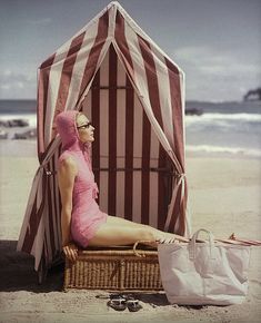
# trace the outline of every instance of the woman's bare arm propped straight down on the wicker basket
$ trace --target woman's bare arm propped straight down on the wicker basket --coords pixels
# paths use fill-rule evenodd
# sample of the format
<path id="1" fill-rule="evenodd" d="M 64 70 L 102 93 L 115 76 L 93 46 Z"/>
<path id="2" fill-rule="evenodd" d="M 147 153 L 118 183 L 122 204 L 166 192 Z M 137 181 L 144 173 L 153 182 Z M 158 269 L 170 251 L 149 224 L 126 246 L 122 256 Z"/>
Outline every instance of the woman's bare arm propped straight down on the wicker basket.
<path id="1" fill-rule="evenodd" d="M 70 260 L 76 260 L 77 248 L 71 241 L 72 192 L 77 176 L 77 165 L 71 157 L 62 160 L 58 170 L 58 185 L 61 195 L 62 248 Z"/>

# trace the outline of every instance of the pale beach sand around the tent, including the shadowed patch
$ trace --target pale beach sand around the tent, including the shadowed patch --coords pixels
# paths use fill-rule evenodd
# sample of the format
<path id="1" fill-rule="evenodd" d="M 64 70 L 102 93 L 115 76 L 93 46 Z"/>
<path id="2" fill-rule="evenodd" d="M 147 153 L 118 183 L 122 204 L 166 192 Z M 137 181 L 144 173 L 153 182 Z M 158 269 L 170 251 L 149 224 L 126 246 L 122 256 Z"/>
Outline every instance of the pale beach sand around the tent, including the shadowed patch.
<path id="1" fill-rule="evenodd" d="M 107 306 L 104 291 L 63 292 L 62 267 L 39 285 L 32 257 L 16 252 L 38 166 L 26 156 L 0 158 L 0 322 L 261 322 L 261 247 L 251 249 L 249 293 L 240 305 L 195 309 L 170 305 L 164 293 L 141 293 L 141 311 L 117 312 Z M 188 156 L 187 176 L 193 232 L 203 227 L 217 237 L 261 238 L 260 160 Z"/>

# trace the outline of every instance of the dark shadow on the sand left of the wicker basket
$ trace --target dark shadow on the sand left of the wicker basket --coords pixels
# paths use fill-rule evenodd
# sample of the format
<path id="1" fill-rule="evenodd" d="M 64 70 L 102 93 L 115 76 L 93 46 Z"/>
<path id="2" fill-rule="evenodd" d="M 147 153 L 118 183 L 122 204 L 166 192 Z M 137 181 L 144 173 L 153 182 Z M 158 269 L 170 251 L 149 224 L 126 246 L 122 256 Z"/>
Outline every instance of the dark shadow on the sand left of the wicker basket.
<path id="1" fill-rule="evenodd" d="M 17 252 L 17 241 L 0 241 L 0 291 L 30 291 L 36 293 L 62 291 L 63 264 L 49 270 L 42 284 L 38 282 L 38 274 L 33 264 L 34 258 L 32 256 Z"/>

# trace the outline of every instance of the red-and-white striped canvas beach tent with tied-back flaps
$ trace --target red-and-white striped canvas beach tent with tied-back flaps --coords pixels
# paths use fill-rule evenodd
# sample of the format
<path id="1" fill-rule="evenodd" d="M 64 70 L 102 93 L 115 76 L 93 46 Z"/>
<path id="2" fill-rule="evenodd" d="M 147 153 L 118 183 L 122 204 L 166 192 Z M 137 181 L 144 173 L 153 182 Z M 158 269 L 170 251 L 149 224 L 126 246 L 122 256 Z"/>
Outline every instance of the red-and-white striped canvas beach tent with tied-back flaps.
<path id="1" fill-rule="evenodd" d="M 18 251 L 42 272 L 60 256 L 61 141 L 56 116 L 82 110 L 96 127 L 92 165 L 110 215 L 190 234 L 184 175 L 184 75 L 118 2 L 39 68 L 38 155 Z"/>

